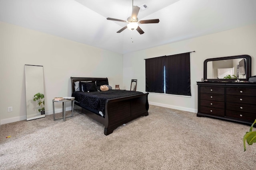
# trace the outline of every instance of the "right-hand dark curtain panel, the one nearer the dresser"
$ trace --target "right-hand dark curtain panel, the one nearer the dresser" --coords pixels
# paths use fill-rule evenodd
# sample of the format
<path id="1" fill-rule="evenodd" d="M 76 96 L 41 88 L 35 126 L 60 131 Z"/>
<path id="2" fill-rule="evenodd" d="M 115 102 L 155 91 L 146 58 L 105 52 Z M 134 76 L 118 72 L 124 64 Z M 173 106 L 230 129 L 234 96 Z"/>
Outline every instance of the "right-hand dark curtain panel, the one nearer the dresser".
<path id="1" fill-rule="evenodd" d="M 166 57 L 166 94 L 191 96 L 190 53 Z"/>

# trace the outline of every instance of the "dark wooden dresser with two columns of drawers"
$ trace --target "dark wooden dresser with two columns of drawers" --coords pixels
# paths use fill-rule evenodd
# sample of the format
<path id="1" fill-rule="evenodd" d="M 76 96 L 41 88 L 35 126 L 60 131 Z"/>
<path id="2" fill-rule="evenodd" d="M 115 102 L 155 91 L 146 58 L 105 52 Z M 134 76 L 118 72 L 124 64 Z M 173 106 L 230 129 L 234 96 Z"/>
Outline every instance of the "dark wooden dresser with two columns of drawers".
<path id="1" fill-rule="evenodd" d="M 251 125 L 256 119 L 255 82 L 197 82 L 198 117 Z"/>

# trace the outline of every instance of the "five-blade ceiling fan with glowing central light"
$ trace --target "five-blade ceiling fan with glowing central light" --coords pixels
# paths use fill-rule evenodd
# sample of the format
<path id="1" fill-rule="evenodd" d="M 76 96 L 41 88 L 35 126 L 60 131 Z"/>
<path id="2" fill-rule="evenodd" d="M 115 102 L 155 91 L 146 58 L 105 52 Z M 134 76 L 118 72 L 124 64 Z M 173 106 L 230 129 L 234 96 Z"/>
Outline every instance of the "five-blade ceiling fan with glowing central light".
<path id="1" fill-rule="evenodd" d="M 140 20 L 138 21 L 138 13 L 140 11 L 140 7 L 138 6 L 133 6 L 133 0 L 132 0 L 132 16 L 127 18 L 127 21 L 125 20 L 119 20 L 119 19 L 115 19 L 115 18 L 107 18 L 107 20 L 112 20 L 112 21 L 120 21 L 120 22 L 126 22 L 128 23 L 125 27 L 123 27 L 122 29 L 120 29 L 119 31 L 117 31 L 117 33 L 120 33 L 122 31 L 124 31 L 124 29 L 128 28 L 130 30 L 134 30 L 136 29 L 140 34 L 143 34 L 144 31 L 138 26 L 138 24 L 142 24 L 142 23 L 158 23 L 159 19 L 153 19 L 153 20 Z"/>

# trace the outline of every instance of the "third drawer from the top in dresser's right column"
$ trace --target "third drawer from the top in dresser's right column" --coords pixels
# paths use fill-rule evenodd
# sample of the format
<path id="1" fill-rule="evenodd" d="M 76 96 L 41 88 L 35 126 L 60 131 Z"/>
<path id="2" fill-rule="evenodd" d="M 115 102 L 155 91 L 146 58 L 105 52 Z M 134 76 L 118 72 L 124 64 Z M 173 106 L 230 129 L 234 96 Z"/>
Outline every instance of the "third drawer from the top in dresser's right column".
<path id="1" fill-rule="evenodd" d="M 226 102 L 226 110 L 255 113 L 256 105 Z"/>

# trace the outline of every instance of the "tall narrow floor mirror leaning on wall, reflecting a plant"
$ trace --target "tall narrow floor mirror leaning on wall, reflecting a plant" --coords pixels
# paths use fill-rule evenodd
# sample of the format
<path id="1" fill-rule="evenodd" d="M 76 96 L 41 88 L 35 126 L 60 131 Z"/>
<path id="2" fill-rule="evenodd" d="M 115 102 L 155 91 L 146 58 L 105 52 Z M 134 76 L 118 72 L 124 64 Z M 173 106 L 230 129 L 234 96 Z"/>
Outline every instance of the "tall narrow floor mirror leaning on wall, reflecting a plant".
<path id="1" fill-rule="evenodd" d="M 29 121 L 45 117 L 44 69 L 43 66 L 36 65 L 25 65 L 24 67 L 26 82 L 26 112 L 27 121 Z"/>

